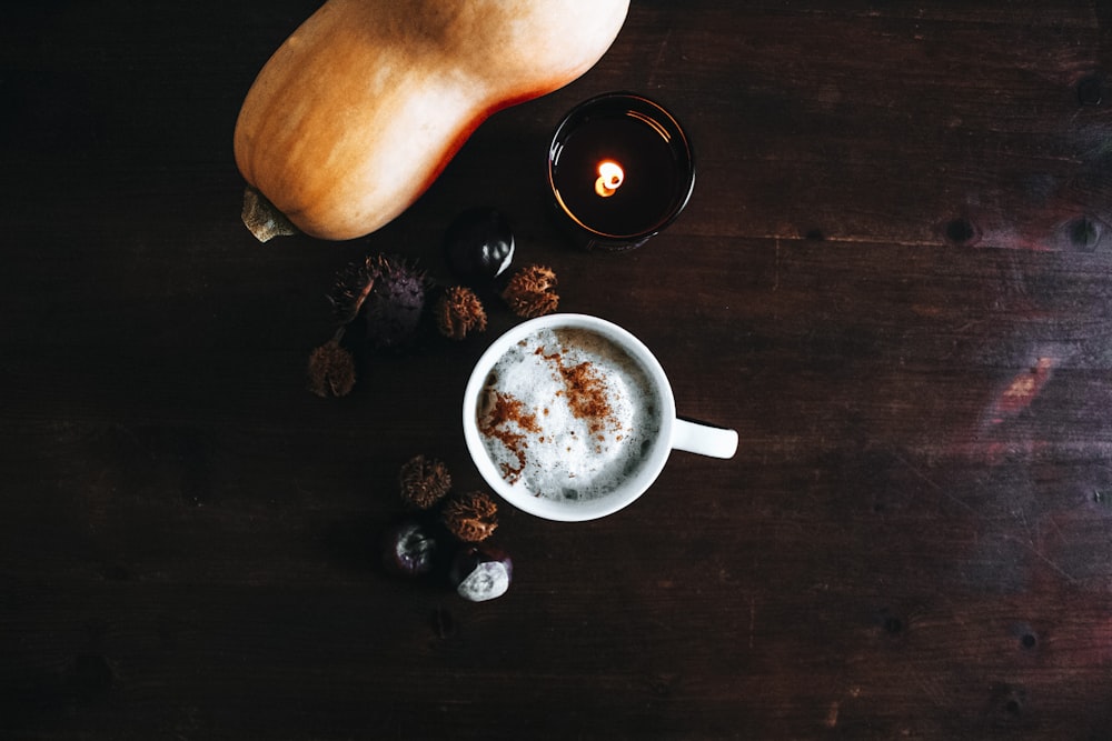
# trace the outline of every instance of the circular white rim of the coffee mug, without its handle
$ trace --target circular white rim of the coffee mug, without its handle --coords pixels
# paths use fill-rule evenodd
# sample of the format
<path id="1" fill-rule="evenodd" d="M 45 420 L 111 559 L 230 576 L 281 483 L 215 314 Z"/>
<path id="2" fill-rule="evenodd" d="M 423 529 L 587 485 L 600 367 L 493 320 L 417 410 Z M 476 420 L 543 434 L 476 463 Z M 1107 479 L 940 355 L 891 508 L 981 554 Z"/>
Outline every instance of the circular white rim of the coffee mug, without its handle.
<path id="1" fill-rule="evenodd" d="M 643 464 L 631 479 L 613 492 L 585 502 L 568 505 L 559 500 L 535 494 L 524 487 L 513 487 L 506 482 L 497 470 L 481 439 L 476 417 L 479 393 L 495 363 L 514 342 L 524 339 L 540 329 L 586 329 L 603 334 L 618 344 L 645 370 L 654 391 L 659 397 L 661 429 L 652 449 L 645 455 Z M 582 313 L 553 313 L 526 320 L 510 328 L 495 339 L 483 352 L 471 369 L 464 390 L 463 429 L 464 441 L 470 453 L 471 461 L 479 474 L 499 498 L 517 509 L 547 520 L 564 522 L 582 522 L 594 520 L 632 504 L 653 482 L 656 481 L 672 452 L 672 434 L 676 420 L 675 395 L 664 368 L 656 356 L 628 330 L 600 317 Z"/>

